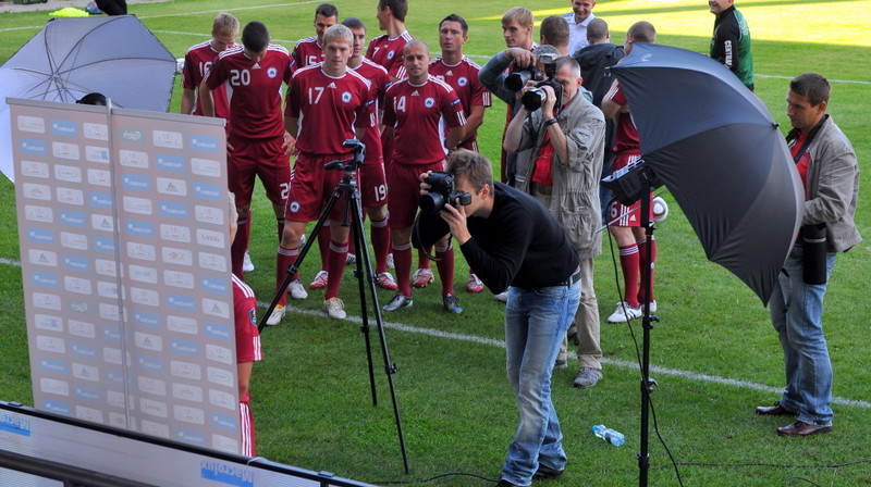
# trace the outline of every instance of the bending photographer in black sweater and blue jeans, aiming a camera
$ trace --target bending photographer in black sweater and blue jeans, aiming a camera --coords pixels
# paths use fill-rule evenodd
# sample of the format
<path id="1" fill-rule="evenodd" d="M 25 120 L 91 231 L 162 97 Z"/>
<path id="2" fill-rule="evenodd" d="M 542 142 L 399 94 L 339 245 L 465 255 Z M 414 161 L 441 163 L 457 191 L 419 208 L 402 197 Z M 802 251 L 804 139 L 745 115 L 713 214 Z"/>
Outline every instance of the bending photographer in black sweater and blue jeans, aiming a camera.
<path id="1" fill-rule="evenodd" d="M 580 300 L 577 252 L 540 202 L 493 182 L 491 163 L 483 155 L 457 150 L 449 154 L 446 170 L 447 174 L 420 175 L 420 192 L 438 192 L 436 199 L 446 203 L 418 214 L 413 241 L 426 248 L 450 234 L 490 290 L 510 286 L 505 345 L 519 425 L 496 486 L 528 486 L 532 478 L 559 477 L 566 454 L 550 383 L 560 344 Z"/>

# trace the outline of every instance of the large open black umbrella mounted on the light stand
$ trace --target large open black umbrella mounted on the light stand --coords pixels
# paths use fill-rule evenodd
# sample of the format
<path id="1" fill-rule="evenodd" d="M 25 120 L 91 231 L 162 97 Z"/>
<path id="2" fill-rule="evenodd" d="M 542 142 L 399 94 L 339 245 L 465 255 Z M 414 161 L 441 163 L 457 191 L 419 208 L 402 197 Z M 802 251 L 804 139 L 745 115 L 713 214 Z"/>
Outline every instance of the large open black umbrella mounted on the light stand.
<path id="1" fill-rule="evenodd" d="M 771 112 L 725 66 L 684 49 L 635 42 L 611 72 L 629 101 L 641 158 L 708 259 L 768 304 L 805 201 Z"/>

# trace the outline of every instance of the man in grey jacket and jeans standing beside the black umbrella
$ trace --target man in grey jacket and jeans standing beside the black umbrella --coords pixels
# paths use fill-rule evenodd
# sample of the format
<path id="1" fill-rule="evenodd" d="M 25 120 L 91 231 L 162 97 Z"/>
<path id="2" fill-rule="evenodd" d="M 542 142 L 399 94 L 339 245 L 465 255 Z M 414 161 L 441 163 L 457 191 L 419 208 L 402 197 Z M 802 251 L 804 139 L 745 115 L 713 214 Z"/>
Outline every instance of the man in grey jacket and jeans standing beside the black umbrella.
<path id="1" fill-rule="evenodd" d="M 854 214 L 859 195 L 859 165 L 850 141 L 825 113 L 831 87 L 820 74 L 805 73 L 789 83 L 786 136 L 805 185 L 802 237 L 789 252 L 771 295 L 771 322 L 781 339 L 786 387 L 780 401 L 757 414 L 797 415 L 777 428 L 782 436 L 809 436 L 832 430 L 832 363 L 823 335 L 826 280 L 836 252 L 861 241 Z M 813 259 L 811 230 L 823 229 L 823 252 Z M 817 267 L 820 275 L 812 276 Z"/>

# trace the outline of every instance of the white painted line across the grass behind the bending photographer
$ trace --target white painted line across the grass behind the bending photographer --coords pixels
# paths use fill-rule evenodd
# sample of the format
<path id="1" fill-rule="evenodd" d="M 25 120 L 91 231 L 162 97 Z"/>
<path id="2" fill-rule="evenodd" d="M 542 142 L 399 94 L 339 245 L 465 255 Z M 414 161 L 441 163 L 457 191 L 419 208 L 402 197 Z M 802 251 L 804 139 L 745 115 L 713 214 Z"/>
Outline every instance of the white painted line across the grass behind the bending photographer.
<path id="1" fill-rule="evenodd" d="M 2 265 L 13 265 L 13 266 L 16 266 L 16 267 L 21 267 L 21 262 L 15 261 L 15 260 L 11 260 L 11 259 L 0 258 L 0 264 L 2 264 Z M 263 310 L 269 308 L 269 303 L 268 302 L 258 302 L 257 305 L 259 305 Z M 307 315 L 312 315 L 312 316 L 326 316 L 327 315 L 322 311 L 306 310 L 306 309 L 294 308 L 294 307 L 290 307 L 290 305 L 287 307 L 287 311 L 290 311 L 291 313 L 295 313 L 295 314 L 307 314 Z M 356 324 L 361 324 L 363 323 L 363 319 L 359 317 L 359 316 L 351 316 L 351 315 L 348 315 L 346 321 L 349 321 L 349 322 L 356 323 Z M 375 320 L 372 320 L 372 323 L 375 323 Z M 393 323 L 393 322 L 382 322 L 382 323 L 383 323 L 385 328 L 395 329 L 397 332 L 416 333 L 416 334 L 419 334 L 419 335 L 427 335 L 427 336 L 434 337 L 434 338 L 445 338 L 445 339 L 449 339 L 449 340 L 469 341 L 469 342 L 478 344 L 478 345 L 489 345 L 489 346 L 492 346 L 492 347 L 499 347 L 499 348 L 503 348 L 503 349 L 505 348 L 505 341 L 495 340 L 493 338 L 484 338 L 484 337 L 479 337 L 477 335 L 465 335 L 465 334 L 459 334 L 459 333 L 449 333 L 449 332 L 442 332 L 440 329 L 432 329 L 432 328 L 421 328 L 419 326 L 412 326 L 412 325 L 406 325 L 406 324 L 403 324 L 403 323 Z M 287 325 L 285 325 L 285 326 L 287 326 Z M 370 325 L 370 327 L 371 327 L 371 325 Z M 370 329 L 370 333 L 372 333 L 371 329 Z M 375 333 L 378 333 L 378 330 L 376 329 Z M 572 359 L 576 360 L 574 358 L 574 355 L 572 355 Z M 626 360 L 614 360 L 614 359 L 603 358 L 602 359 L 602 363 L 608 364 L 608 365 L 612 365 L 612 366 L 615 366 L 615 367 L 619 367 L 619 369 L 638 369 L 638 363 L 637 362 L 629 362 L 629 361 L 626 361 Z M 687 378 L 687 379 L 690 379 L 690 380 L 698 380 L 698 382 L 703 382 L 703 383 L 712 383 L 712 384 L 719 384 L 719 385 L 722 385 L 722 386 L 738 387 L 738 388 L 744 388 L 744 389 L 753 389 L 753 390 L 760 390 L 760 391 L 763 391 L 763 392 L 780 394 L 783 390 L 783 388 L 781 388 L 781 387 L 765 386 L 763 384 L 756 384 L 756 383 L 751 383 L 751 382 L 748 382 L 748 380 L 739 380 L 739 379 L 735 379 L 735 378 L 720 377 L 720 376 L 716 376 L 716 375 L 700 374 L 698 372 L 682 371 L 682 370 L 678 370 L 678 369 L 661 367 L 661 366 L 658 366 L 658 365 L 651 365 L 650 366 L 650 372 L 653 373 L 653 374 L 671 375 L 671 376 L 674 376 L 674 377 L 682 377 L 682 378 Z M 839 405 L 849 405 L 849 407 L 852 407 L 852 408 L 871 409 L 871 402 L 868 402 L 868 401 L 858 401 L 858 400 L 854 400 L 854 399 L 845 399 L 845 398 L 835 397 L 833 399 L 833 402 L 835 404 L 839 404 Z"/>

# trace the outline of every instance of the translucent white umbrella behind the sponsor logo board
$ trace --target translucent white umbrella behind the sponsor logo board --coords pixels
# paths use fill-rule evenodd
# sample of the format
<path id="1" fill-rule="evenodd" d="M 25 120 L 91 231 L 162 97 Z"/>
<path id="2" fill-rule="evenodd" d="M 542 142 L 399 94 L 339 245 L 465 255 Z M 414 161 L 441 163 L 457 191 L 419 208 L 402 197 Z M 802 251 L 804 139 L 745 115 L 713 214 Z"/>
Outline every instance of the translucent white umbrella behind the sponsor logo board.
<path id="1" fill-rule="evenodd" d="M 7 97 L 74 103 L 100 92 L 115 107 L 165 112 L 175 66 L 133 15 L 49 21 L 0 66 L 0 170 L 13 177 Z"/>

